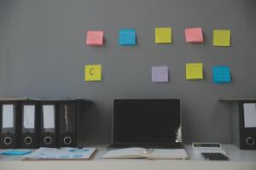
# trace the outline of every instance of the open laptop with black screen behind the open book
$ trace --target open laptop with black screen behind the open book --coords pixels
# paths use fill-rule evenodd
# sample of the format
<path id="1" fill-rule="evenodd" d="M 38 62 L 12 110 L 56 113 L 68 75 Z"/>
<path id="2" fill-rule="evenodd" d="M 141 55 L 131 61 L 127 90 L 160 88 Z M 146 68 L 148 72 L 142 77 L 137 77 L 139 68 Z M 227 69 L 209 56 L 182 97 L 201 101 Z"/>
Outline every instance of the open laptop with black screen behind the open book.
<path id="1" fill-rule="evenodd" d="M 181 125 L 179 99 L 114 99 L 108 149 L 182 149 Z"/>

